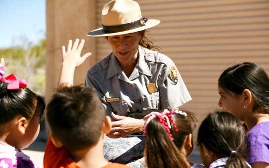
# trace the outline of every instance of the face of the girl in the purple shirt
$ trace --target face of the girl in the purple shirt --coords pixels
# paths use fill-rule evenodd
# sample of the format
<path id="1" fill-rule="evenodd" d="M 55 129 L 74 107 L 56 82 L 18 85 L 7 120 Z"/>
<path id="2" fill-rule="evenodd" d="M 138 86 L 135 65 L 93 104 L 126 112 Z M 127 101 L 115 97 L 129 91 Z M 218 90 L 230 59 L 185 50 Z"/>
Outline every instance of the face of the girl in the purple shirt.
<path id="1" fill-rule="evenodd" d="M 241 121 L 244 121 L 244 97 L 242 95 L 235 95 L 233 92 L 227 93 L 219 84 L 218 90 L 221 96 L 218 105 L 234 114 Z"/>

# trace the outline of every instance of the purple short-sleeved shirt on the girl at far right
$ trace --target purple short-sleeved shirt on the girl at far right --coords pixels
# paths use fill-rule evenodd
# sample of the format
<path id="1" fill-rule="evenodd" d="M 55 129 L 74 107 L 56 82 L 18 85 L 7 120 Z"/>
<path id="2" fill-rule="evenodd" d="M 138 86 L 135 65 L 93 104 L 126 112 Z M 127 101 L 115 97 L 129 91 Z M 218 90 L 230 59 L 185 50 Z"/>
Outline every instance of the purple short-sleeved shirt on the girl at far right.
<path id="1" fill-rule="evenodd" d="M 269 122 L 254 126 L 249 132 L 249 164 L 255 162 L 269 163 Z"/>

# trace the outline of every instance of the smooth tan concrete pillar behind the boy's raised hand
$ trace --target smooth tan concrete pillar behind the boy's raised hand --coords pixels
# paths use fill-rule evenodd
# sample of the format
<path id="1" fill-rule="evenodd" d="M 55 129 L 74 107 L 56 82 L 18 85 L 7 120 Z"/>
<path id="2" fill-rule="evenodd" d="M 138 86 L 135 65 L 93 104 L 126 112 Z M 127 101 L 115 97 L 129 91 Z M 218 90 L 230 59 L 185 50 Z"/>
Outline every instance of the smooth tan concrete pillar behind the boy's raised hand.
<path id="1" fill-rule="evenodd" d="M 61 69 L 61 47 L 68 40 L 84 39 L 82 55 L 92 53 L 81 67 L 76 69 L 74 84 L 83 84 L 87 71 L 95 61 L 95 39 L 87 33 L 95 29 L 95 0 L 46 0 L 46 90 L 48 103 L 57 87 Z M 49 127 L 45 122 L 46 135 Z"/>

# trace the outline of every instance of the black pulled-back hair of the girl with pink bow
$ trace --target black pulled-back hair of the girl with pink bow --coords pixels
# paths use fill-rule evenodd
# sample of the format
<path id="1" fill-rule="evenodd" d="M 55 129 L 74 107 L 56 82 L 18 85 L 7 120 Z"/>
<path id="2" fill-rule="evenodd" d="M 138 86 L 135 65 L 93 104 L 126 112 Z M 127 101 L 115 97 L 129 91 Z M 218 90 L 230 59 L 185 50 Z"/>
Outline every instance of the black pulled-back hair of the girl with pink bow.
<path id="1" fill-rule="evenodd" d="M 40 116 L 40 121 L 44 119 L 45 102 L 40 95 L 27 87 L 8 90 L 6 83 L 0 85 L 0 129 L 18 115 L 27 120 L 33 116 Z"/>

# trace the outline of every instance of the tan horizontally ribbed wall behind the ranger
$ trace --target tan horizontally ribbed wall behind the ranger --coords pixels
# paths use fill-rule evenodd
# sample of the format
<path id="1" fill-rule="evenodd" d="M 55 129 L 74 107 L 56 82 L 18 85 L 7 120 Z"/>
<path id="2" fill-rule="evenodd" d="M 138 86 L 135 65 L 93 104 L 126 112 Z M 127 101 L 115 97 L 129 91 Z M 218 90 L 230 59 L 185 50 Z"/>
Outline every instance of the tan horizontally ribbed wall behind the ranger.
<path id="1" fill-rule="evenodd" d="M 96 28 L 108 1 L 96 1 Z M 218 78 L 235 63 L 255 62 L 269 74 L 269 0 L 136 1 L 142 16 L 161 20 L 149 36 L 175 62 L 192 96 L 182 107 L 198 114 L 218 108 Z M 96 39 L 101 60 L 111 49 Z"/>

